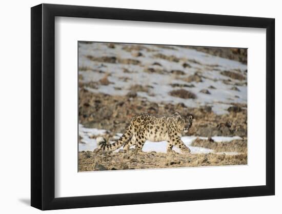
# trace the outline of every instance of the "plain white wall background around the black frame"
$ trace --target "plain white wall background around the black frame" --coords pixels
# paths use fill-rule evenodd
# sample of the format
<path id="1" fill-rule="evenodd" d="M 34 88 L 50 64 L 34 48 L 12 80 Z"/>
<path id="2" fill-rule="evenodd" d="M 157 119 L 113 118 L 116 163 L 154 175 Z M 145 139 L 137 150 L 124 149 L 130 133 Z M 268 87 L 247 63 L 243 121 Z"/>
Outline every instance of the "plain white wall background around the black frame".
<path id="1" fill-rule="evenodd" d="M 4 1 L 1 4 L 0 33 L 0 210 L 2 213 L 21 211 L 37 213 L 30 207 L 30 7 L 41 1 Z M 279 1 L 130 1 L 130 0 L 64 0 L 44 3 L 100 7 L 122 7 L 226 15 L 261 16 L 276 19 L 276 133 L 282 128 L 281 55 L 282 13 Z M 281 176 L 282 137 L 276 134 L 276 196 L 145 204 L 118 207 L 56 210 L 51 213 L 280 213 L 282 208 Z"/>

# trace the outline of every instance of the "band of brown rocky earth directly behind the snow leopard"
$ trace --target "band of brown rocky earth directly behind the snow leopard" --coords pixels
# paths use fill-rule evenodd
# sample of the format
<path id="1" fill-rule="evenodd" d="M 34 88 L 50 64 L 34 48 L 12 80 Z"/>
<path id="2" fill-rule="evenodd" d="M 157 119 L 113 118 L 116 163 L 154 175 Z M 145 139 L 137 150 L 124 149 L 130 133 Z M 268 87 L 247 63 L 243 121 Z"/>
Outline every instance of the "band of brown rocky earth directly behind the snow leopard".
<path id="1" fill-rule="evenodd" d="M 81 86 L 84 86 L 83 84 Z M 139 89 L 137 86 L 134 89 Z M 140 90 L 140 89 L 139 89 Z M 193 115 L 193 126 L 189 135 L 212 137 L 234 136 L 247 138 L 247 109 L 230 103 L 229 114 L 217 115 L 210 106 L 189 108 L 183 103 L 154 103 L 134 96 L 112 96 L 79 90 L 79 123 L 88 128 L 111 130 L 122 133 L 132 116 L 139 113 L 171 115 L 175 111 L 183 115 Z"/>

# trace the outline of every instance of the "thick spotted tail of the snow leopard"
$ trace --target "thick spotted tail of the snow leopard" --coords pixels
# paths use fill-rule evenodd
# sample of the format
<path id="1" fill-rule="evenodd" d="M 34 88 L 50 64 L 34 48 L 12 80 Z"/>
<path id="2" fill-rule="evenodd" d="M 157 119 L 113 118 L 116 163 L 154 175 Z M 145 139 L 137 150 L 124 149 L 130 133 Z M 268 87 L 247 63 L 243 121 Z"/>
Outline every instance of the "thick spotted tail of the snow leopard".
<path id="1" fill-rule="evenodd" d="M 122 137 L 120 137 L 116 142 L 114 142 L 112 144 L 108 144 L 104 138 L 98 137 L 96 139 L 97 144 L 98 144 L 98 149 L 109 152 L 109 151 L 114 151 L 114 150 L 122 147 L 132 137 L 132 133 L 130 131 L 132 129 L 130 129 L 130 126 L 131 125 L 128 126 L 128 128 L 126 129 L 126 131 L 122 135 Z"/>

